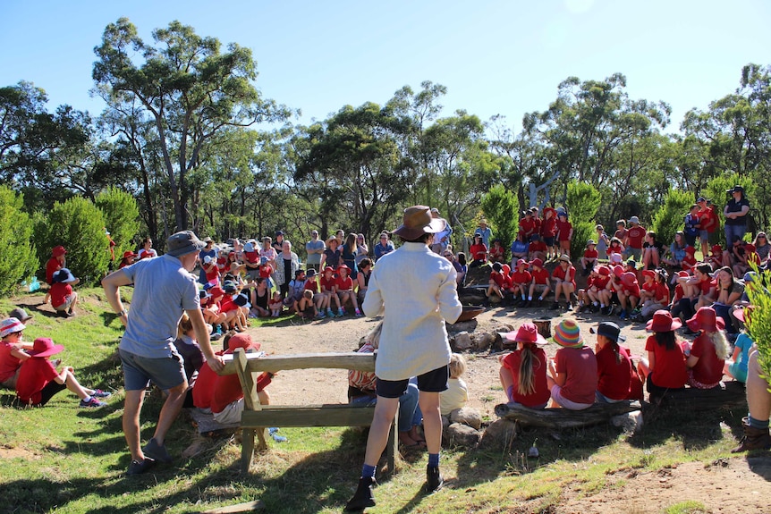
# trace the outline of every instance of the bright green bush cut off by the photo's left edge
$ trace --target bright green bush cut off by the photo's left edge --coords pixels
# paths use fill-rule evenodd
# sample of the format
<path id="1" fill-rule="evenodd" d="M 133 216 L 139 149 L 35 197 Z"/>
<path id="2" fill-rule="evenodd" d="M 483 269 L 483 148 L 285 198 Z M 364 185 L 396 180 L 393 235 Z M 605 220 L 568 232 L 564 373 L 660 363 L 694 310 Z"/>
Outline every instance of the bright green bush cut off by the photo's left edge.
<path id="1" fill-rule="evenodd" d="M 0 186 L 0 294 L 11 292 L 40 265 L 32 245 L 30 216 L 21 210 L 24 198 Z"/>

